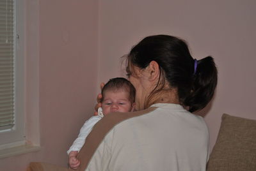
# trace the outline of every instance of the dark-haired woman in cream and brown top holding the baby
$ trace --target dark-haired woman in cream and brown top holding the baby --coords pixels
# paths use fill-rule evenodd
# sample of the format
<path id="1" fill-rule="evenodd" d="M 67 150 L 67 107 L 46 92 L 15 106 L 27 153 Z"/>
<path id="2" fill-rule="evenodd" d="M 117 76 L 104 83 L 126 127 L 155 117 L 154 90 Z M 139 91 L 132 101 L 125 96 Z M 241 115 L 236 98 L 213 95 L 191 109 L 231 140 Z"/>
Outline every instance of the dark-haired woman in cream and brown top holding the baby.
<path id="1" fill-rule="evenodd" d="M 191 114 L 211 100 L 217 84 L 212 57 L 196 60 L 183 40 L 148 36 L 127 56 L 137 112 L 104 117 L 79 157 L 81 170 L 205 170 L 209 133 Z"/>

